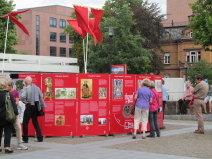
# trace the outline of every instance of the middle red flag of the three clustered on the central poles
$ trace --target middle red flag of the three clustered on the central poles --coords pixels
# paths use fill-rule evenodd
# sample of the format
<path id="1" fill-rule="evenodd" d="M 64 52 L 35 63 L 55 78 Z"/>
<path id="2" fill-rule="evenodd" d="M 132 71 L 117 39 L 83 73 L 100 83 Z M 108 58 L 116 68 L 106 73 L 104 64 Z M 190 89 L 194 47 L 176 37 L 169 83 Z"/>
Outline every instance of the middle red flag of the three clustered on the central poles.
<path id="1" fill-rule="evenodd" d="M 86 7 L 80 7 L 80 6 L 75 6 L 75 12 L 76 12 L 76 17 L 77 17 L 77 22 L 78 26 L 86 31 L 87 33 L 91 34 L 94 38 L 94 45 L 96 45 L 96 36 L 93 33 L 93 30 L 89 26 L 89 15 L 88 15 L 88 8 Z"/>

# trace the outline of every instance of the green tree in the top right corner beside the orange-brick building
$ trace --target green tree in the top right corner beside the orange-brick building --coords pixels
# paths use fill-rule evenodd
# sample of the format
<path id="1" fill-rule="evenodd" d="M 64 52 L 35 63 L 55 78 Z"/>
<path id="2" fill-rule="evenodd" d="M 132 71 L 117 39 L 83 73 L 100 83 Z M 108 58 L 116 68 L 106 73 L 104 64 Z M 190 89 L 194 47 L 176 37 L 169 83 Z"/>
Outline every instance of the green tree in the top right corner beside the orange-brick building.
<path id="1" fill-rule="evenodd" d="M 190 27 L 193 30 L 193 37 L 197 44 L 210 50 L 212 45 L 212 1 L 196 0 L 190 4 L 193 16 L 191 17 Z"/>

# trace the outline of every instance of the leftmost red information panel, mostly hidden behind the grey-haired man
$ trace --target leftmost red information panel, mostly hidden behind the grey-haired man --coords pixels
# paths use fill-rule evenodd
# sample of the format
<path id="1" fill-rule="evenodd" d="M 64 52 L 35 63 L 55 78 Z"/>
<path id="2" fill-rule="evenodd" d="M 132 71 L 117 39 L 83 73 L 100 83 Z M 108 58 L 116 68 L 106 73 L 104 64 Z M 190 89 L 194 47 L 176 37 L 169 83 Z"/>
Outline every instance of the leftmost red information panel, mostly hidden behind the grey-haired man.
<path id="1" fill-rule="evenodd" d="M 32 83 L 34 83 L 39 88 L 41 88 L 41 74 L 40 73 L 34 73 L 34 74 L 33 73 L 25 73 L 25 74 L 18 74 L 18 79 L 13 79 L 17 90 L 21 90 L 23 88 L 23 81 L 27 76 L 30 76 L 32 78 Z M 42 129 L 42 123 L 43 123 L 43 117 L 38 117 L 38 124 L 40 125 L 41 129 Z M 36 135 L 35 129 L 32 125 L 32 120 L 29 121 L 28 135 L 29 136 Z"/>

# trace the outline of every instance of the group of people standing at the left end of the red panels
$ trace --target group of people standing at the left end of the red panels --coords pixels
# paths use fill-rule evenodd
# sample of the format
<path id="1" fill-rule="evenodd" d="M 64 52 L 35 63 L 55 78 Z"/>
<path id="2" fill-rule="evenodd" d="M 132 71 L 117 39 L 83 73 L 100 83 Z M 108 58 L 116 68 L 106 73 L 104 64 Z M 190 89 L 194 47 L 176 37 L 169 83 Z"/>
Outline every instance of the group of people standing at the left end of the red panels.
<path id="1" fill-rule="evenodd" d="M 0 80 L 0 152 L 1 140 L 4 132 L 4 151 L 5 153 L 12 153 L 10 147 L 11 134 L 13 128 L 16 131 L 17 149 L 27 150 L 28 147 L 23 143 L 28 143 L 28 124 L 32 119 L 33 126 L 36 130 L 37 141 L 42 142 L 43 136 L 37 120 L 37 112 L 41 107 L 45 106 L 42 98 L 40 88 L 32 83 L 32 78 L 27 76 L 24 80 L 24 88 L 18 92 L 13 89 L 12 80 Z M 12 110 L 15 113 L 15 121 L 11 122 L 6 117 L 6 95 L 9 92 L 12 103 Z M 23 121 L 22 121 L 23 120 Z M 22 123 L 22 124 L 21 124 Z M 23 126 L 23 136 L 22 129 Z"/>

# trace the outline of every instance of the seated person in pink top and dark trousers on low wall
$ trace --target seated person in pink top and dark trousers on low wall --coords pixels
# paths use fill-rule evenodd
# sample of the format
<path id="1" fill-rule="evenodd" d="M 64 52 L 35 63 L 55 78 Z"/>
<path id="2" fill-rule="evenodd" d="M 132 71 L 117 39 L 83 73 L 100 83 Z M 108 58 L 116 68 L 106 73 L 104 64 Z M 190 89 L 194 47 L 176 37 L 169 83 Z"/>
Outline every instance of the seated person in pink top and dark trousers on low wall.
<path id="1" fill-rule="evenodd" d="M 187 106 L 188 103 L 192 100 L 193 98 L 193 87 L 189 81 L 186 82 L 186 90 L 184 93 L 184 96 L 182 99 L 178 101 L 179 104 L 179 109 L 180 109 L 180 114 L 187 114 Z"/>

